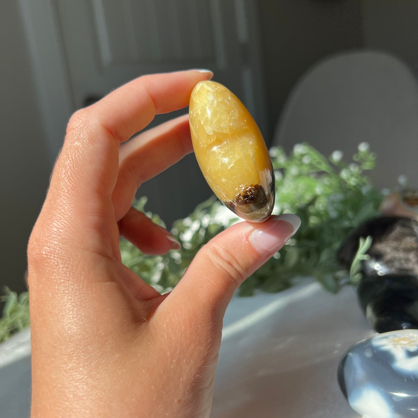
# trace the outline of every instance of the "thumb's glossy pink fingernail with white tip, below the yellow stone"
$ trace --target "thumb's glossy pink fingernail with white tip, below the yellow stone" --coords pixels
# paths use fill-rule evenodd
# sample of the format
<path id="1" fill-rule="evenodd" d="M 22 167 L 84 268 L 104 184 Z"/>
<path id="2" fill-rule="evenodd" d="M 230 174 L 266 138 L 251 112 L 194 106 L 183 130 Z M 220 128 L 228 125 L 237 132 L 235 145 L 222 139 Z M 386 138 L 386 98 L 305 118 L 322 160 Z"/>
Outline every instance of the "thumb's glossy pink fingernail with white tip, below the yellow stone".
<path id="1" fill-rule="evenodd" d="M 250 235 L 250 242 L 260 254 L 278 251 L 301 226 L 298 216 L 286 213 L 273 216 Z"/>

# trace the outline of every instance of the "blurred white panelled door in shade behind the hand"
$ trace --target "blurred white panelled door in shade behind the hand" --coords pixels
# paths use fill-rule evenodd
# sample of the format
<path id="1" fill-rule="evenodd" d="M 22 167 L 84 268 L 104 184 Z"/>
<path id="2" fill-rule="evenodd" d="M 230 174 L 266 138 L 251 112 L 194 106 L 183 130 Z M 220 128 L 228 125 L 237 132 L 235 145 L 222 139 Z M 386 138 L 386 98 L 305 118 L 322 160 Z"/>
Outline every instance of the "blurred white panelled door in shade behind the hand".
<path id="1" fill-rule="evenodd" d="M 21 4 L 25 21 L 32 25 L 34 59 L 43 57 L 35 65 L 51 155 L 58 153 L 65 129 L 57 120 L 67 120 L 69 113 L 141 74 L 179 69 L 214 71 L 214 79 L 237 94 L 265 130 L 253 0 L 21 0 Z M 54 32 L 48 37 L 46 31 Z M 48 57 L 48 51 L 55 51 L 54 57 Z M 56 89 L 45 79 L 48 71 L 56 77 L 56 71 L 43 68 L 48 64 L 62 73 Z M 46 93 L 48 89 L 52 91 Z M 161 115 L 153 125 L 166 119 Z M 147 207 L 167 223 L 186 216 L 210 194 L 193 155 L 138 192 L 149 197 Z"/>

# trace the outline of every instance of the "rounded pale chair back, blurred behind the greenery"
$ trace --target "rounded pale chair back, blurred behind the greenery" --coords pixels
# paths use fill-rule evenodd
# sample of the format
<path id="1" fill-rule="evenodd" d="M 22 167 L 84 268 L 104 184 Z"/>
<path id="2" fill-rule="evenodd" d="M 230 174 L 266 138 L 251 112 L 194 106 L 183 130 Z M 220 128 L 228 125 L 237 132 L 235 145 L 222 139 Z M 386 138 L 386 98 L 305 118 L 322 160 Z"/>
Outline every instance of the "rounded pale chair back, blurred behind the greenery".
<path id="1" fill-rule="evenodd" d="M 332 56 L 315 65 L 290 94 L 273 145 L 307 142 L 351 161 L 361 142 L 377 153 L 379 188 L 408 177 L 418 187 L 418 83 L 397 58 L 376 51 Z"/>

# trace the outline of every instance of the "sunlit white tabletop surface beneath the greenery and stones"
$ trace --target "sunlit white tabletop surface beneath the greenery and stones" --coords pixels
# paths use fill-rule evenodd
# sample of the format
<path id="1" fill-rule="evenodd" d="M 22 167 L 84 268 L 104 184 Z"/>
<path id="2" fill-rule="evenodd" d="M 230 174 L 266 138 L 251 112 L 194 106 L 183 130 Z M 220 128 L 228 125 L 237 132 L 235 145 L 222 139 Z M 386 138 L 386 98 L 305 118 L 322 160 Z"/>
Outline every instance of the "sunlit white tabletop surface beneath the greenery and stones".
<path id="1" fill-rule="evenodd" d="M 375 334 L 352 288 L 326 293 L 313 280 L 281 293 L 234 297 L 224 319 L 211 418 L 358 418 L 336 367 Z M 0 345 L 0 418 L 30 408 L 30 331 Z"/>

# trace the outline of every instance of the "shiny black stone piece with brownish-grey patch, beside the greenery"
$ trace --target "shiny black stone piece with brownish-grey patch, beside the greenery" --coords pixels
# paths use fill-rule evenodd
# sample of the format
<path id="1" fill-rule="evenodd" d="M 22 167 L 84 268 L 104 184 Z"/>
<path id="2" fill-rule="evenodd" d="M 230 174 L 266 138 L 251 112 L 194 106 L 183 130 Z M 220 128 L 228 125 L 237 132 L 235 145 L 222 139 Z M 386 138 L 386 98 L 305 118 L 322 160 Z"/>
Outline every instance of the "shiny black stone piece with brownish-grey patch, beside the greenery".
<path id="1" fill-rule="evenodd" d="M 418 329 L 418 221 L 384 216 L 359 226 L 338 251 L 339 263 L 347 270 L 359 239 L 368 236 L 372 245 L 356 288 L 367 320 L 377 332 Z"/>

